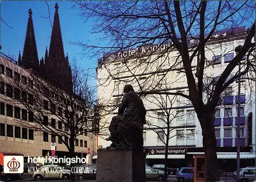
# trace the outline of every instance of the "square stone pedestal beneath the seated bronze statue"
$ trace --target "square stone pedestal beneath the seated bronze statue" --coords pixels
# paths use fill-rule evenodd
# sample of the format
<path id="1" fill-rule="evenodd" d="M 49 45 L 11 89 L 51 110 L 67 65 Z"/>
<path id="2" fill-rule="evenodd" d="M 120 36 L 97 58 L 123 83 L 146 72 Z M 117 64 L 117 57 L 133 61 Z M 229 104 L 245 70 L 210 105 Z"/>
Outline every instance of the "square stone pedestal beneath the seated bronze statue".
<path id="1" fill-rule="evenodd" d="M 144 152 L 98 150 L 96 182 L 144 182 Z"/>

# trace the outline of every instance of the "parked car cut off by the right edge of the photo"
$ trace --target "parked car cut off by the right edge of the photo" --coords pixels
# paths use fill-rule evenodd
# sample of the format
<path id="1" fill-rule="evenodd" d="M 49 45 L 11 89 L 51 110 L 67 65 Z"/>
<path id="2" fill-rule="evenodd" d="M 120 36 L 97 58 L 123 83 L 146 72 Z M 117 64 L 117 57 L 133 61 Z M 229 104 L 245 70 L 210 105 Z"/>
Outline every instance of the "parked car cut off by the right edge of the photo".
<path id="1" fill-rule="evenodd" d="M 255 167 L 246 167 L 240 169 L 240 181 L 254 181 L 255 180 Z M 237 180 L 237 171 L 233 173 L 233 178 Z"/>

